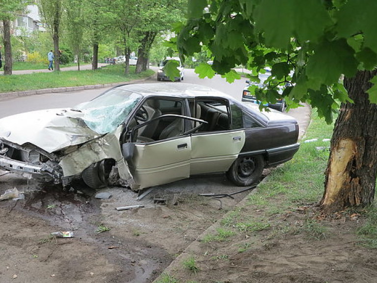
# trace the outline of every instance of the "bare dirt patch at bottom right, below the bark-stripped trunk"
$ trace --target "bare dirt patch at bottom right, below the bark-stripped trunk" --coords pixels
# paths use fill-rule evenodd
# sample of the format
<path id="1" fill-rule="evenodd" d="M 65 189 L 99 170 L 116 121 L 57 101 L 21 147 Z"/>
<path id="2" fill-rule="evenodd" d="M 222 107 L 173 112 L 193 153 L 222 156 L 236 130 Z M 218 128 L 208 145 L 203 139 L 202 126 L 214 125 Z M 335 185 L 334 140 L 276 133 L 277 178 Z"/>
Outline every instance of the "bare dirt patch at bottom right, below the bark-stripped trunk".
<path id="1" fill-rule="evenodd" d="M 241 221 L 264 213 L 244 204 L 241 202 L 236 208 Z M 206 235 L 218 234 L 220 225 L 214 225 L 164 272 L 182 283 L 377 282 L 376 250 L 360 246 L 355 233 L 365 219 L 347 214 L 322 219 L 316 217 L 316 209 L 309 205 L 276 215 L 267 229 L 238 232 L 231 241 L 205 241 Z M 325 227 L 321 237 L 303 228 L 304 221 L 311 219 L 320 219 L 319 224 Z M 192 258 L 196 272 L 187 265 Z"/>

